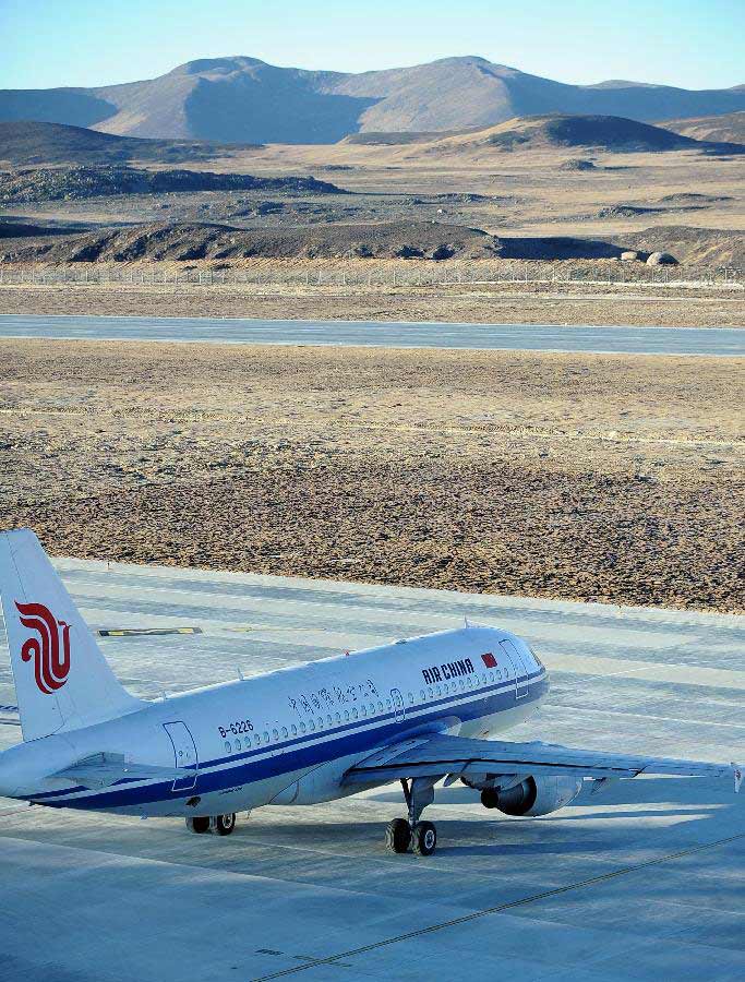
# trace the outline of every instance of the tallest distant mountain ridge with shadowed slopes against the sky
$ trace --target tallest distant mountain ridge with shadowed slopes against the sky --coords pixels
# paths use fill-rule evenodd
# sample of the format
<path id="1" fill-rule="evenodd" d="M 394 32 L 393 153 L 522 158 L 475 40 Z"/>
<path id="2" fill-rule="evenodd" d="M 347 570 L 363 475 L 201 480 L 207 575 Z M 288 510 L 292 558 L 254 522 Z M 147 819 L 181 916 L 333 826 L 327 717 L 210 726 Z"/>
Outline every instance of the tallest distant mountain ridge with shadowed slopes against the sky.
<path id="1" fill-rule="evenodd" d="M 0 120 L 219 143 L 335 143 L 358 132 L 484 128 L 552 112 L 649 121 L 743 110 L 742 85 L 569 85 L 471 56 L 360 74 L 277 68 L 237 56 L 190 61 L 123 85 L 0 91 Z"/>

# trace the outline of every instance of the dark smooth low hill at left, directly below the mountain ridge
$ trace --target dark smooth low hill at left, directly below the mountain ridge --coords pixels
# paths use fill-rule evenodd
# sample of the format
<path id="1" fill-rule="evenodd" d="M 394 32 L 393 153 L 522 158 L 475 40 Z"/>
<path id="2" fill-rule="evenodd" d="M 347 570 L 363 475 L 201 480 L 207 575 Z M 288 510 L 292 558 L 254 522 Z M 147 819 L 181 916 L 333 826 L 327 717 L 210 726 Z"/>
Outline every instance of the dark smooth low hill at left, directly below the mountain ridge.
<path id="1" fill-rule="evenodd" d="M 115 136 L 61 123 L 33 120 L 0 122 L 0 160 L 14 166 L 124 164 L 130 160 L 182 164 L 187 160 L 207 160 L 235 149 L 235 144 Z"/>

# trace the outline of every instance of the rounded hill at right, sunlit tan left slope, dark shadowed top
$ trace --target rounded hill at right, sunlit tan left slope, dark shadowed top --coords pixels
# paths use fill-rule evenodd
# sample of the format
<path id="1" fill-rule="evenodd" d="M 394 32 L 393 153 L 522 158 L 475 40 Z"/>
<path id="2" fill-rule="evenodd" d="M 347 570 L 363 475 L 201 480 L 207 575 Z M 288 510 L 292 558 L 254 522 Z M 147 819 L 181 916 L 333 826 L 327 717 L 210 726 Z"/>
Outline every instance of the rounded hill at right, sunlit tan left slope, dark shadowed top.
<path id="1" fill-rule="evenodd" d="M 593 147 L 614 152 L 699 149 L 705 153 L 743 153 L 738 144 L 704 143 L 661 127 L 620 116 L 527 116 L 495 127 L 433 142 L 430 152 L 493 147 L 504 151 L 540 147 Z"/>

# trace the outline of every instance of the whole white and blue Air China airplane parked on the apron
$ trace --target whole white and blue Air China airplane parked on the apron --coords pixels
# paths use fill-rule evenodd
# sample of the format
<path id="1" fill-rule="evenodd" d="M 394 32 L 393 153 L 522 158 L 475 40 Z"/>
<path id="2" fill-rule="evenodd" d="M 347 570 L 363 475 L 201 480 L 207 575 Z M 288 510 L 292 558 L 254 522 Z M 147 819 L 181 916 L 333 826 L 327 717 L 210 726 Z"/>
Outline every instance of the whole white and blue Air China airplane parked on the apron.
<path id="1" fill-rule="evenodd" d="M 23 742 L 0 753 L 0 795 L 53 809 L 180 816 L 231 834 L 236 814 L 308 805 L 399 781 L 396 853 L 431 855 L 434 786 L 460 780 L 488 809 L 546 815 L 586 781 L 734 778 L 742 768 L 580 750 L 501 734 L 549 692 L 533 648 L 471 625 L 402 638 L 155 700 L 115 676 L 38 539 L 0 534 L 0 595 Z"/>

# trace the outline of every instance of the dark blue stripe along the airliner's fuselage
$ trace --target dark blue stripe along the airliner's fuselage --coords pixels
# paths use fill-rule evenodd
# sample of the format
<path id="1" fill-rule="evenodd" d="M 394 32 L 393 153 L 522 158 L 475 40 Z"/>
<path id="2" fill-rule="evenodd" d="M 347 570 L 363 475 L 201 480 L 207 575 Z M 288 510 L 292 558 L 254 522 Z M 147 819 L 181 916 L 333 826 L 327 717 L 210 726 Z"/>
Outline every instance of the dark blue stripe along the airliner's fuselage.
<path id="1" fill-rule="evenodd" d="M 452 708 L 453 715 L 465 721 L 479 717 L 492 716 L 495 712 L 513 709 L 516 706 L 534 703 L 548 690 L 548 676 L 543 672 L 537 672 L 518 680 L 518 686 L 528 684 L 528 693 L 515 697 L 515 683 L 501 682 L 485 686 L 477 693 L 468 703 L 461 703 L 466 693 L 446 698 L 436 699 L 426 706 L 426 712 L 421 708 L 413 709 L 418 715 L 414 718 L 405 718 L 396 721 L 394 712 L 376 717 L 371 726 L 370 719 L 355 720 L 337 727 L 335 730 L 307 733 L 303 736 L 293 738 L 272 746 L 257 746 L 250 751 L 232 754 L 229 757 L 216 757 L 200 765 L 196 778 L 196 787 L 190 789 L 188 794 L 175 792 L 173 781 L 159 781 L 157 783 L 140 785 L 136 788 L 128 788 L 127 785 L 136 782 L 136 778 L 124 778 L 118 781 L 111 789 L 91 794 L 87 788 L 76 787 L 65 791 L 43 792 L 35 795 L 32 801 L 39 802 L 49 807 L 70 807 L 98 811 L 105 809 L 130 807 L 160 801 L 177 802 L 194 794 L 207 794 L 212 791 L 223 791 L 240 785 L 249 785 L 255 781 L 275 777 L 279 774 L 291 774 L 303 768 L 317 766 L 333 761 L 336 757 L 345 757 L 355 753 L 363 753 L 365 750 L 374 750 L 382 743 L 393 742 L 416 732 L 423 724 L 435 722 L 443 717 L 443 709 Z M 486 703 L 486 705 L 484 705 Z M 382 720 L 388 720 L 381 726 Z M 310 745 L 309 745 L 310 744 Z M 263 757 L 263 759 L 252 759 Z M 219 767 L 226 763 L 235 766 L 224 767 L 219 770 L 208 771 L 208 767 Z M 80 798 L 69 798 L 70 794 L 85 794 Z M 64 795 L 61 798 L 60 795 Z M 176 797 L 175 797 L 176 795 Z M 51 800 L 51 799 L 55 800 Z"/>

